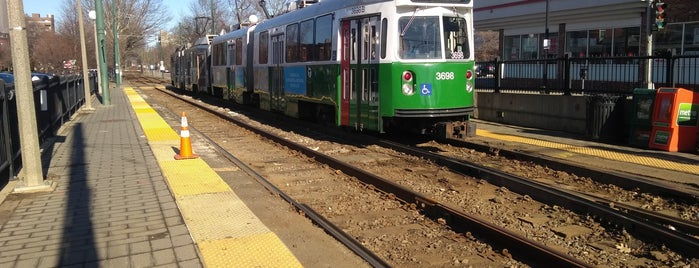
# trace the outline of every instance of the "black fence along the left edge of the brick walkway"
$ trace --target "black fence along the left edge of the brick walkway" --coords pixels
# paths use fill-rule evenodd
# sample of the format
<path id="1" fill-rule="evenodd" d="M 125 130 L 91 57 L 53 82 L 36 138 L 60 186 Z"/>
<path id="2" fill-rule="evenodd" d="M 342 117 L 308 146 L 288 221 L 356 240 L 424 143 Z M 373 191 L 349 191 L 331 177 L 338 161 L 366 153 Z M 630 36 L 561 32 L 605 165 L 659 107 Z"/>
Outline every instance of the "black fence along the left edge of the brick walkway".
<path id="1" fill-rule="evenodd" d="M 90 92 L 97 88 L 95 75 L 89 77 Z M 33 82 L 39 142 L 56 135 L 58 129 L 85 102 L 83 77 L 42 76 Z M 17 175 L 21 166 L 20 135 L 15 88 L 0 80 L 0 188 Z"/>

